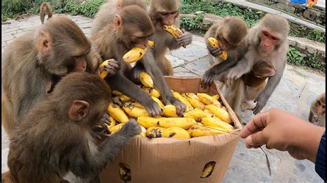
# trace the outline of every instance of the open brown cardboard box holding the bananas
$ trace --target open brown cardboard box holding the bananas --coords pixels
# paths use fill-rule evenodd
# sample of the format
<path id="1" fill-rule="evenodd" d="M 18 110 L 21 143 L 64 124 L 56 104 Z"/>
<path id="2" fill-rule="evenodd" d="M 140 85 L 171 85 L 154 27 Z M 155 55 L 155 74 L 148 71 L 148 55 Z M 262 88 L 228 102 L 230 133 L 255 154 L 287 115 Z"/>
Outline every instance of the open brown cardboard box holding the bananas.
<path id="1" fill-rule="evenodd" d="M 170 88 L 176 92 L 203 92 L 219 94 L 234 122 L 235 131 L 215 136 L 178 140 L 174 138 L 135 137 L 123 148 L 114 162 L 100 173 L 102 183 L 123 182 L 119 177 L 119 163 L 130 165 L 130 182 L 221 182 L 239 140 L 242 128 L 234 111 L 221 95 L 217 83 L 210 88 L 200 87 L 199 77 L 165 77 Z M 215 161 L 211 175 L 201 178 L 204 165 Z"/>

